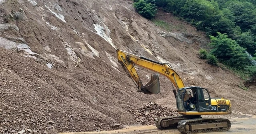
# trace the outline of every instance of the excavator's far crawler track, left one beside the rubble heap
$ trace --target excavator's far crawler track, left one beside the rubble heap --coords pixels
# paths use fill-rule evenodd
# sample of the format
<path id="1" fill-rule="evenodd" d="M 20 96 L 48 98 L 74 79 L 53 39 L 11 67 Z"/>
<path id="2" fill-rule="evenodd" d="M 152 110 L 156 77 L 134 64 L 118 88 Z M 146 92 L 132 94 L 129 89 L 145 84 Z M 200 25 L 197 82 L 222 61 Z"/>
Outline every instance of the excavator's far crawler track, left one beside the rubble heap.
<path id="1" fill-rule="evenodd" d="M 168 116 L 168 117 L 160 117 L 160 118 L 157 118 L 156 121 L 155 121 L 155 124 L 156 124 L 156 127 L 159 128 L 159 129 L 173 129 L 173 128 L 177 128 L 177 125 L 178 124 L 168 124 L 165 125 L 167 127 L 164 127 L 162 124 L 162 121 L 169 121 L 169 120 L 186 120 L 187 118 L 184 118 L 184 116 Z"/>

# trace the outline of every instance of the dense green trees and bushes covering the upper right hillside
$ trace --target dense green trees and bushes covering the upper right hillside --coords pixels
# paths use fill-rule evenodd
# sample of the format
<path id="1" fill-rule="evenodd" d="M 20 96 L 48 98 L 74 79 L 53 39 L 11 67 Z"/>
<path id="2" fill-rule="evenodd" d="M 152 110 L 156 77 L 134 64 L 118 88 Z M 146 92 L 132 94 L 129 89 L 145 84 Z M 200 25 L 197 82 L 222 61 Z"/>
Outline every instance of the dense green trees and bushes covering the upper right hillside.
<path id="1" fill-rule="evenodd" d="M 138 11 L 146 4 L 152 6 L 146 8 L 146 13 L 151 14 L 147 18 L 154 18 L 154 8 L 158 7 L 205 31 L 211 39 L 210 49 L 201 49 L 199 57 L 207 63 L 220 62 L 243 76 L 255 78 L 256 66 L 245 51 L 256 59 L 256 0 L 134 0 L 134 5 L 140 5 L 136 6 Z M 164 22 L 155 24 L 170 29 Z"/>

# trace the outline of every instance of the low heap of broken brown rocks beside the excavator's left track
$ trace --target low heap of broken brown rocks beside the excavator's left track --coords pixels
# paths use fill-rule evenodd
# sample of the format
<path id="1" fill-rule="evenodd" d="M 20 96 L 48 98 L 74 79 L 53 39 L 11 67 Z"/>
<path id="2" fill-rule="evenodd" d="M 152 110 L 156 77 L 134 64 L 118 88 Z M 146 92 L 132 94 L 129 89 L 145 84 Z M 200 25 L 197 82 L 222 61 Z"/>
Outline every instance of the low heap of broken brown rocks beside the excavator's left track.
<path id="1" fill-rule="evenodd" d="M 128 112 L 136 117 L 136 122 L 142 125 L 154 125 L 154 121 L 159 117 L 178 116 L 177 110 L 161 106 L 156 102 L 149 102 L 140 108 L 130 108 Z"/>

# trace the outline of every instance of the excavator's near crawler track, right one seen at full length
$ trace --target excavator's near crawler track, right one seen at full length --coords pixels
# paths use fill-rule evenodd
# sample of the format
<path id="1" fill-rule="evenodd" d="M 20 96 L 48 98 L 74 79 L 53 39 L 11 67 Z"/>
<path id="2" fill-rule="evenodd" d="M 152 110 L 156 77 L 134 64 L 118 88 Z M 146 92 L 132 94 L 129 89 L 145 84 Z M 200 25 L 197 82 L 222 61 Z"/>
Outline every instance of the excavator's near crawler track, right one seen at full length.
<path id="1" fill-rule="evenodd" d="M 178 123 L 178 130 L 182 134 L 228 131 L 230 127 L 230 120 L 224 118 L 194 118 Z"/>

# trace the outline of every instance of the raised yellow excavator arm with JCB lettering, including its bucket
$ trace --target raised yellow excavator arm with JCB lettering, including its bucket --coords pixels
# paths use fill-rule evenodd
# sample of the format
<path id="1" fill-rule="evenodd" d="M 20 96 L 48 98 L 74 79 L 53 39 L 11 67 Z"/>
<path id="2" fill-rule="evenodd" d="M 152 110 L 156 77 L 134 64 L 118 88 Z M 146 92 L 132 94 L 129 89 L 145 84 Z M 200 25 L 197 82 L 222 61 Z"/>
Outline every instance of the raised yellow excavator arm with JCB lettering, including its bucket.
<path id="1" fill-rule="evenodd" d="M 180 76 L 171 68 L 167 63 L 160 63 L 158 61 L 153 61 L 145 57 L 134 55 L 119 49 L 116 50 L 118 62 L 122 65 L 127 75 L 131 77 L 138 88 L 138 92 L 143 92 L 145 94 L 158 94 L 160 92 L 159 76 L 157 73 L 160 73 L 166 76 L 174 84 L 176 89 L 184 87 L 184 83 Z M 149 69 L 156 72 L 151 76 L 151 80 L 143 85 L 138 73 L 136 72 L 135 65 Z M 172 84 L 170 83 L 170 84 Z M 176 98 L 176 90 L 174 89 L 174 95 Z"/>

